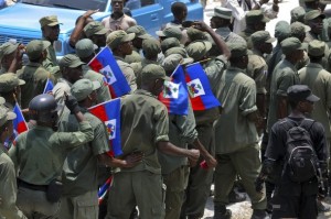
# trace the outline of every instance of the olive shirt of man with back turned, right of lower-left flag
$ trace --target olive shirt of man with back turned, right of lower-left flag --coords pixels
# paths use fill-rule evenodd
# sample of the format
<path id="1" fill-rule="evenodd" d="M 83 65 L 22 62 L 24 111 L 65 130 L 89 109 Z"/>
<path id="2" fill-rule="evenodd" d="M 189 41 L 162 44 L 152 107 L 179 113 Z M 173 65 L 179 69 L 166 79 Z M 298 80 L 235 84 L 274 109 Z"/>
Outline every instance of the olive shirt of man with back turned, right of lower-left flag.
<path id="1" fill-rule="evenodd" d="M 151 92 L 138 89 L 121 99 L 122 157 L 134 152 L 145 154 L 142 162 L 122 172 L 149 171 L 161 174 L 157 143 L 169 141 L 169 118 L 166 106 Z"/>

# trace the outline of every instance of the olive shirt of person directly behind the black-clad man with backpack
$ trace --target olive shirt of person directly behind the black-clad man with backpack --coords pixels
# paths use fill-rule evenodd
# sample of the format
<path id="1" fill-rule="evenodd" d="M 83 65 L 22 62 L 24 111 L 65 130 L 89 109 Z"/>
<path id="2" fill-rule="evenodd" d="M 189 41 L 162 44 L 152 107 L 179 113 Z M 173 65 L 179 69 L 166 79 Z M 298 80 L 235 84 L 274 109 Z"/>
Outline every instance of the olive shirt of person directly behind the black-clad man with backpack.
<path id="1" fill-rule="evenodd" d="M 287 89 L 290 86 L 298 84 L 300 84 L 300 78 L 296 66 L 293 66 L 287 59 L 282 59 L 278 65 L 276 65 L 270 81 L 270 102 L 267 120 L 267 131 L 270 131 L 271 127 L 278 121 L 278 96 L 287 97 Z M 289 106 L 288 111 L 290 111 Z"/>

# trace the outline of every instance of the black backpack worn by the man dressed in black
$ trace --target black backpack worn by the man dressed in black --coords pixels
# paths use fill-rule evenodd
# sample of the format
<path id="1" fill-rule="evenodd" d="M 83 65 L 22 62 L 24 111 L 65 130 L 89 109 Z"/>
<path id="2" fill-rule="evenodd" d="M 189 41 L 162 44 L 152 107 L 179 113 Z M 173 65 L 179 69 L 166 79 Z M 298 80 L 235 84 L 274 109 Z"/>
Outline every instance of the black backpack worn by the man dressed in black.
<path id="1" fill-rule="evenodd" d="M 310 139 L 309 130 L 313 120 L 303 119 L 298 125 L 295 121 L 286 119 L 286 156 L 284 173 L 296 183 L 308 182 L 318 174 L 319 162 Z"/>

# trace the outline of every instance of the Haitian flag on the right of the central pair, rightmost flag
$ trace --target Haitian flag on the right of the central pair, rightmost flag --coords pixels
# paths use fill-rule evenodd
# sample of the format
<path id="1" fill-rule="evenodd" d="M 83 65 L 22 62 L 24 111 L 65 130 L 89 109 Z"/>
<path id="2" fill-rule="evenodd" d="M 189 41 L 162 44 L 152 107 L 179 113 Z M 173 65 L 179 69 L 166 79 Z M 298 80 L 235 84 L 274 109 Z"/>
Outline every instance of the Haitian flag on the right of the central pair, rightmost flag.
<path id="1" fill-rule="evenodd" d="M 194 111 L 221 106 L 211 89 L 209 78 L 200 63 L 186 66 L 185 80 Z"/>

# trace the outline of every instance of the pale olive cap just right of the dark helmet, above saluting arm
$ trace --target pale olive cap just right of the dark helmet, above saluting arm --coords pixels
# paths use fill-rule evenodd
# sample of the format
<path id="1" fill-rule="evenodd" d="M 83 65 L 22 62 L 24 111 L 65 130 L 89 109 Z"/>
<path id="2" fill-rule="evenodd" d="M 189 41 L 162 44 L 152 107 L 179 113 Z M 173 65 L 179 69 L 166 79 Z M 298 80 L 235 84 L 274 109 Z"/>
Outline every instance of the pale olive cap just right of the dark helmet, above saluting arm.
<path id="1" fill-rule="evenodd" d="M 82 101 L 88 97 L 94 90 L 100 88 L 99 81 L 90 81 L 89 79 L 79 79 L 71 88 L 72 95 Z"/>

